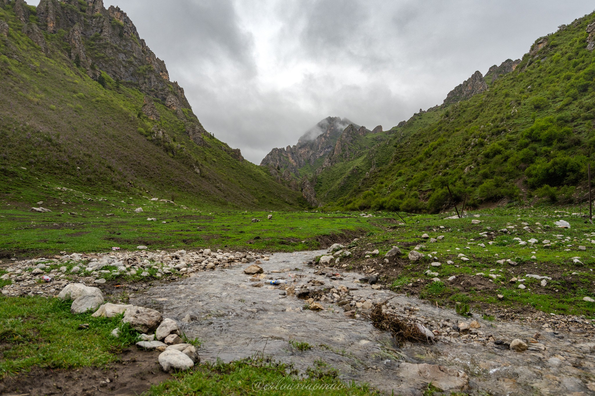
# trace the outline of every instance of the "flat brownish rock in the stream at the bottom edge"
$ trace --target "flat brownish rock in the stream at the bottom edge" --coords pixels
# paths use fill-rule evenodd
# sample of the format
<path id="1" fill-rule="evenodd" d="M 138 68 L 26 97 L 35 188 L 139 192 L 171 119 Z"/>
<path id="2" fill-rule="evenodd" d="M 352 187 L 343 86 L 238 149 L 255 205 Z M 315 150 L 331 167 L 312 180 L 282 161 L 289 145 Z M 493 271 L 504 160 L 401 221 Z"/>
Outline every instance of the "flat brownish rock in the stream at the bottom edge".
<path id="1" fill-rule="evenodd" d="M 427 363 L 400 363 L 397 375 L 405 379 L 403 382 L 431 383 L 441 391 L 469 388 L 469 377 L 465 372 L 446 366 L 428 365 Z"/>

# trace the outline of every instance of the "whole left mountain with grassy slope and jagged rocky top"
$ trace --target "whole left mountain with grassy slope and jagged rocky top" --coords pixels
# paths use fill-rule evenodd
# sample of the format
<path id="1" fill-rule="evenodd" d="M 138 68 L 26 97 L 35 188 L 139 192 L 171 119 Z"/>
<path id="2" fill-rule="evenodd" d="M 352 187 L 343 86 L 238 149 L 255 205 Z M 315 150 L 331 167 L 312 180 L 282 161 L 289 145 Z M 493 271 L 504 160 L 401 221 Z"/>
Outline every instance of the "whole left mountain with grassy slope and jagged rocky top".
<path id="1" fill-rule="evenodd" d="M 205 131 L 164 61 L 102 0 L 0 0 L 0 135 L 3 192 L 43 182 L 218 207 L 307 205 Z"/>

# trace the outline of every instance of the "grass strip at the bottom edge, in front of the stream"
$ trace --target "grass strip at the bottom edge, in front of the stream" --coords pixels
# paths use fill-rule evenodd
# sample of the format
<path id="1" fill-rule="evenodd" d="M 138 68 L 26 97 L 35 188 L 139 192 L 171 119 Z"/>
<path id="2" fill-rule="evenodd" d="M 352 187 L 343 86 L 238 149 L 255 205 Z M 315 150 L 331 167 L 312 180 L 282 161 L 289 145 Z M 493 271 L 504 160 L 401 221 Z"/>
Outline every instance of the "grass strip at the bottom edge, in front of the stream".
<path id="1" fill-rule="evenodd" d="M 293 372 L 293 373 L 292 373 Z M 370 395 L 378 394 L 367 384 L 344 384 L 337 371 L 317 362 L 305 378 L 298 378 L 283 363 L 245 359 L 237 362 L 201 365 L 192 373 L 154 385 L 147 395 Z"/>

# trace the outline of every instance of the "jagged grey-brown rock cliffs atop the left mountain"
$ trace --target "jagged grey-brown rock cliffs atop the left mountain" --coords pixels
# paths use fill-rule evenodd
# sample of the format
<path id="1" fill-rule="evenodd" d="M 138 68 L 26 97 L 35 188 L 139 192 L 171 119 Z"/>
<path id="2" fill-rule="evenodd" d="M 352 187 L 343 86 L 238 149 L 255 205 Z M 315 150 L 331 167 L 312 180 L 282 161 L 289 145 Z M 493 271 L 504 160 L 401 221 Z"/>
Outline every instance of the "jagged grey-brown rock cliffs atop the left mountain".
<path id="1" fill-rule="evenodd" d="M 113 5 L 106 9 L 103 0 L 40 0 L 35 23 L 30 21 L 29 7 L 24 0 L 15 0 L 13 7 L 24 24 L 23 33 L 43 52 L 60 50 L 46 44 L 43 31 L 50 34 L 65 31 L 61 50 L 73 64 L 100 83 L 101 74 L 105 72 L 118 84 L 127 84 L 145 93 L 143 113 L 150 119 L 159 117 L 152 101 L 164 104 L 184 122 L 192 140 L 202 144 L 202 135 L 206 132 L 192 112 L 183 88 L 176 81 L 170 81 L 165 62 L 140 38 L 126 12 Z M 233 154 L 243 159 L 239 150 L 234 150 Z"/>

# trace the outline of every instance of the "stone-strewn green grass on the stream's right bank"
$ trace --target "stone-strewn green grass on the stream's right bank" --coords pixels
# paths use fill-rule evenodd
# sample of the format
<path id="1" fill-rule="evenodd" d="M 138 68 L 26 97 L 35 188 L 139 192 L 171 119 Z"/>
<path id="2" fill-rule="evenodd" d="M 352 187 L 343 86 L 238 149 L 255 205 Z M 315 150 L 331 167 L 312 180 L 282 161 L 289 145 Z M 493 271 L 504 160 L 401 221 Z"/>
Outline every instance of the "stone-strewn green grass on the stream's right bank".
<path id="1" fill-rule="evenodd" d="M 352 243 L 349 249 L 354 256 L 353 259 L 346 260 L 345 265 L 357 268 L 364 251 L 376 248 L 382 256 L 393 245 L 397 245 L 403 252 L 397 258 L 401 264 L 397 267 L 392 267 L 391 264 L 386 271 L 374 266 L 377 271 L 381 271 L 383 281 L 397 293 L 414 293 L 432 303 L 438 302 L 439 305 L 452 308 L 456 302 L 469 304 L 472 312 L 529 305 L 544 312 L 593 317 L 595 304 L 583 301 L 583 297 L 595 296 L 595 244 L 588 240 L 595 239 L 595 235 L 591 236 L 595 229 L 591 224 L 585 224 L 583 217 L 560 211 L 578 213 L 579 208 L 511 204 L 506 208 L 473 212 L 481 214 L 478 218 L 482 221 L 480 224 L 471 224 L 474 217 L 444 220 L 444 217 L 452 214 L 449 213 L 409 215 L 405 218 L 406 224 L 400 225 L 402 221 L 396 214 L 374 213 L 378 216 L 374 218 L 375 223 L 383 227 L 384 231 L 361 237 Z M 560 219 L 568 221 L 571 229 L 558 228 L 554 222 Z M 522 223 L 530 224 L 530 229 L 523 229 L 525 225 Z M 441 229 L 440 226 L 444 228 Z M 509 233 L 498 231 L 508 226 L 514 226 L 509 229 Z M 483 232 L 494 232 L 495 242 L 492 245 L 488 243 L 491 238 L 480 236 Z M 421 238 L 424 233 L 431 237 L 444 235 L 444 239 L 431 243 Z M 515 237 L 524 241 L 534 238 L 539 243 L 519 245 L 513 239 Z M 545 239 L 556 243 L 544 247 L 541 241 Z M 478 246 L 479 243 L 483 243 L 485 247 Z M 409 261 L 407 255 L 417 244 L 422 245 L 419 252 L 425 257 L 419 261 Z M 586 250 L 578 249 L 580 245 L 585 246 Z M 458 257 L 460 253 L 465 254 L 469 261 L 462 261 Z M 536 256 L 536 259 L 532 259 L 532 256 Z M 584 264 L 574 263 L 572 258 L 575 256 L 580 257 Z M 500 259 L 511 259 L 518 262 L 518 265 L 510 265 L 506 261 L 499 264 L 496 261 Z M 431 267 L 430 263 L 434 261 L 440 262 L 441 266 Z M 453 261 L 453 264 L 448 264 L 448 261 Z M 426 275 L 427 270 L 439 273 L 440 282 L 433 282 L 431 278 L 434 276 Z M 484 275 L 475 275 L 478 273 Z M 488 274 L 500 276 L 493 279 Z M 547 285 L 542 287 L 541 280 L 525 278 L 526 274 L 549 275 L 552 280 L 547 280 Z M 459 277 L 459 280 L 455 278 L 449 281 L 448 278 L 453 275 Z M 471 275 L 473 277 L 469 279 L 472 284 L 460 286 L 460 277 Z M 525 278 L 527 289 L 518 289 L 518 282 L 510 283 L 509 280 L 513 277 Z M 421 287 L 416 289 L 408 286 L 410 283 L 417 283 L 418 279 L 422 281 Z M 488 287 L 475 286 L 476 279 L 481 279 L 481 284 Z M 497 294 L 502 294 L 504 298 L 497 299 Z"/>

